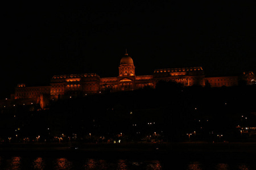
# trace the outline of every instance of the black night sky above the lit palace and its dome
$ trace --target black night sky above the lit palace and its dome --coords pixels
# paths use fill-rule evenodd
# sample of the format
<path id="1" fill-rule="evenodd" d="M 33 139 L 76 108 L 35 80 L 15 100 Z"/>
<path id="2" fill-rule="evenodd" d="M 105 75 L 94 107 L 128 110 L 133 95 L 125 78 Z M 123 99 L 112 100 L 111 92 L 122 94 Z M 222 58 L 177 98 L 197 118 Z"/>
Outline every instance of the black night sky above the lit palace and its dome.
<path id="1" fill-rule="evenodd" d="M 53 75 L 117 76 L 125 53 L 136 75 L 203 66 L 206 75 L 255 73 L 255 3 L 93 1 L 2 4 L 0 98 Z"/>

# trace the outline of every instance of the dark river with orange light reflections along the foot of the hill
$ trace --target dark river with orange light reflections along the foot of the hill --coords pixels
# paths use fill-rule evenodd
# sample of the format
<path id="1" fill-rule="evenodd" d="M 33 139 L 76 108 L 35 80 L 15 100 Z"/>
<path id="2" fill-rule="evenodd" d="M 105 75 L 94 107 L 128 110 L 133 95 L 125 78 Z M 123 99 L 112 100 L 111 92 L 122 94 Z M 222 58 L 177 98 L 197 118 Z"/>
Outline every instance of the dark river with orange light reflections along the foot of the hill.
<path id="1" fill-rule="evenodd" d="M 72 144 L 0 147 L 0 169 L 256 169 L 256 143 Z"/>

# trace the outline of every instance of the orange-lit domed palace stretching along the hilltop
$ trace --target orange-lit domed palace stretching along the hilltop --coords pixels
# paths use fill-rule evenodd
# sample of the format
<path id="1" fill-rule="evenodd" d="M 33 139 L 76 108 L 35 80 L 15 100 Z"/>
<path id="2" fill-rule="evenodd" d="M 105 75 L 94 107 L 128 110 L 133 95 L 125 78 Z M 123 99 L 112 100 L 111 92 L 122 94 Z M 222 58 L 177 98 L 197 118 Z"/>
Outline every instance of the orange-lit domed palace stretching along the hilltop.
<path id="1" fill-rule="evenodd" d="M 255 83 L 252 72 L 243 73 L 243 76 L 205 77 L 202 67 L 184 67 L 174 69 L 156 69 L 153 75 L 135 75 L 133 59 L 126 53 L 121 58 L 117 77 L 100 78 L 95 73 L 55 75 L 50 86 L 26 87 L 18 84 L 13 99 L 19 104 L 40 103 L 44 108 L 47 100 L 65 99 L 73 96 L 100 94 L 105 91 L 116 92 L 137 90 L 144 87 L 155 88 L 160 80 L 181 83 L 184 86 L 222 87 L 237 86 L 238 80 L 243 79 L 247 84 Z"/>

